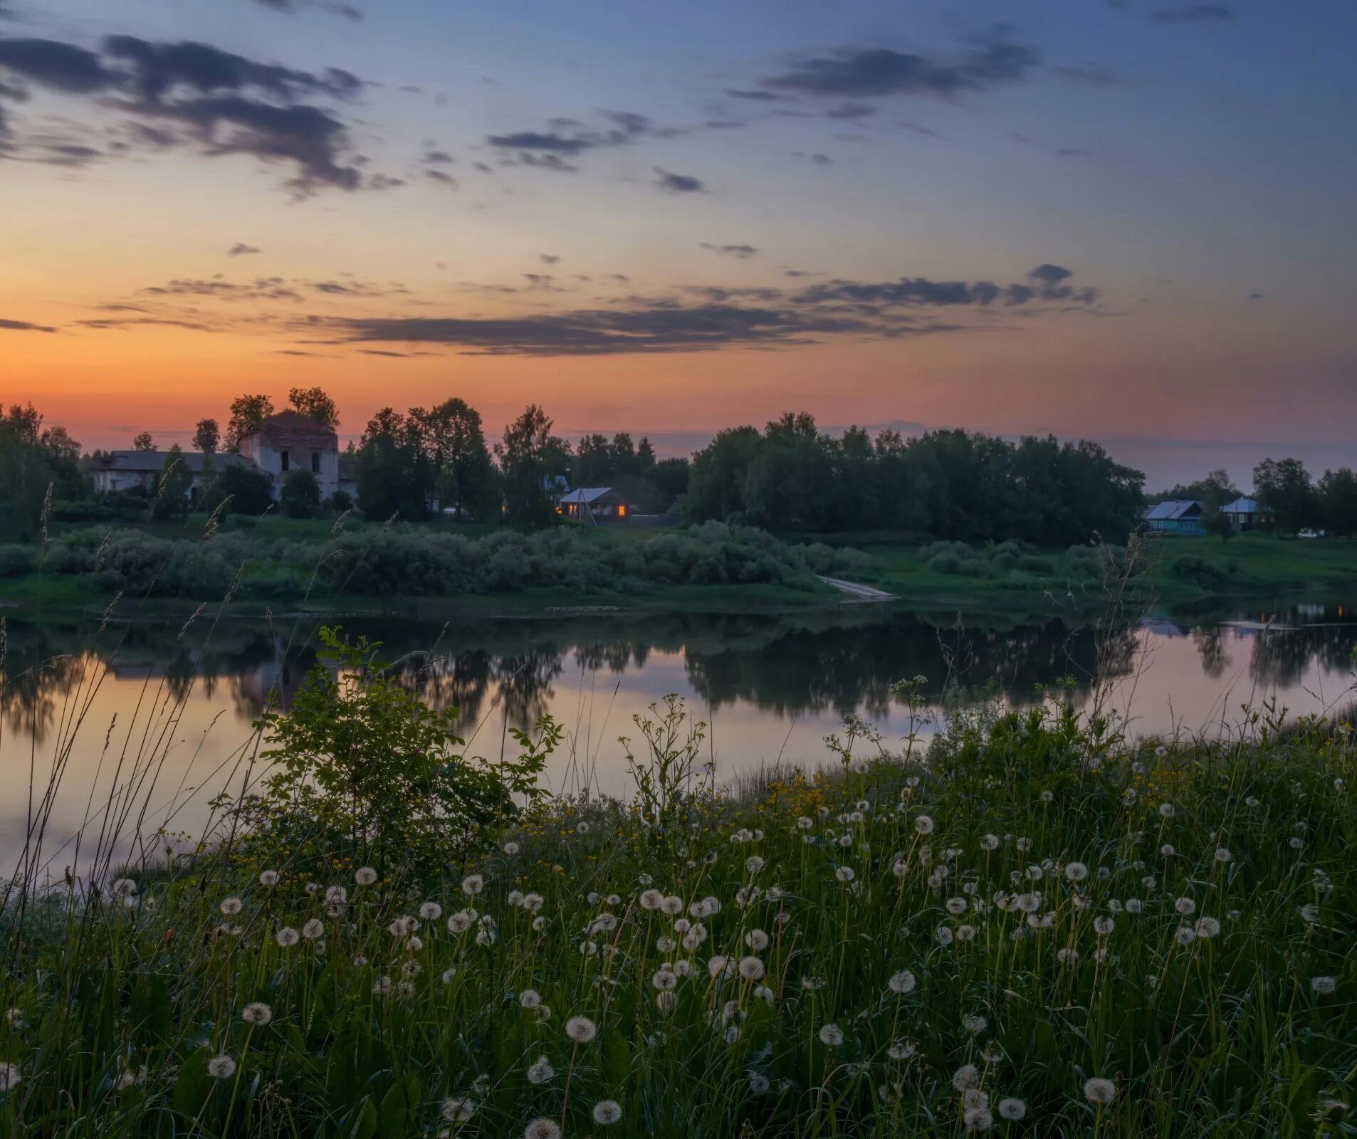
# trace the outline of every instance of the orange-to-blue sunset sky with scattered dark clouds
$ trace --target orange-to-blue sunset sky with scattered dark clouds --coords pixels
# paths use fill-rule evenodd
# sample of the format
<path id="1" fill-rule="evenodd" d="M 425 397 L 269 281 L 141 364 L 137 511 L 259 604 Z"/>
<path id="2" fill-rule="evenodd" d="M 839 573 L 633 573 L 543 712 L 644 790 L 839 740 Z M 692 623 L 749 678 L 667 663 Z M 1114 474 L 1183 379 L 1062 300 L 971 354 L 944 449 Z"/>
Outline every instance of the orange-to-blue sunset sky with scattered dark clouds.
<path id="1" fill-rule="evenodd" d="M 0 0 L 0 398 L 85 447 L 1091 437 L 1357 463 L 1350 0 Z"/>

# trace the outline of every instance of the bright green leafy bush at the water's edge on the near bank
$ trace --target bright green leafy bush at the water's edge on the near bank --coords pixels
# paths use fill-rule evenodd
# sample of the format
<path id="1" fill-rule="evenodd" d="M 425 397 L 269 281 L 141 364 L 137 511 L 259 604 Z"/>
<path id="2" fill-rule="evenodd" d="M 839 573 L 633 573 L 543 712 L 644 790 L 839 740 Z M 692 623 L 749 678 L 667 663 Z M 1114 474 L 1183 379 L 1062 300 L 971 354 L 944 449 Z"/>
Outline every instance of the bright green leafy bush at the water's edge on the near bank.
<path id="1" fill-rule="evenodd" d="M 539 739 L 516 732 L 521 752 L 498 763 L 463 753 L 457 709 L 434 711 L 375 660 L 377 643 L 322 629 L 326 660 L 307 673 L 286 711 L 261 722 L 271 760 L 266 794 L 247 810 L 256 842 L 323 854 L 343 850 L 383 873 L 433 874 L 459 863 L 537 794 L 536 777 L 559 745 L 550 717 Z M 267 838 L 265 838 L 265 835 Z"/>

